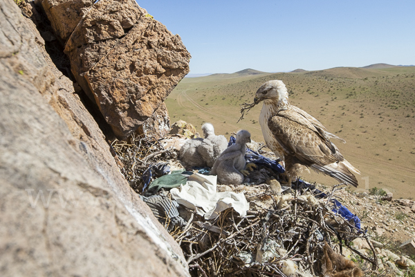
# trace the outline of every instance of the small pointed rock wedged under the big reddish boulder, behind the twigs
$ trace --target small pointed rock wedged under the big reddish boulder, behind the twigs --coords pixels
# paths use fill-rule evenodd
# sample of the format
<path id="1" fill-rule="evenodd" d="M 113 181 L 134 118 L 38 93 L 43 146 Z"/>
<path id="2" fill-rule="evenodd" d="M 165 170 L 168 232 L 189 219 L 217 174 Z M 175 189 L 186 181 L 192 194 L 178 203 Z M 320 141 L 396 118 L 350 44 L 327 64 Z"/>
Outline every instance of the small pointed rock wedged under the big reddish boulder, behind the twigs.
<path id="1" fill-rule="evenodd" d="M 169 132 L 170 117 L 164 102 L 136 130 L 137 135 L 153 136 L 156 139 L 162 139 Z"/>

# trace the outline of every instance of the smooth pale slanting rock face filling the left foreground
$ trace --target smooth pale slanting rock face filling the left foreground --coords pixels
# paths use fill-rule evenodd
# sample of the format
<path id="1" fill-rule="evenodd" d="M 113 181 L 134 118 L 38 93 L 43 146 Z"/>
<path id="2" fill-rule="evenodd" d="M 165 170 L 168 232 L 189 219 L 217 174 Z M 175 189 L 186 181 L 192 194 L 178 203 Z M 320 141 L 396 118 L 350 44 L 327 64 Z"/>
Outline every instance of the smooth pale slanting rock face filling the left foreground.
<path id="1" fill-rule="evenodd" d="M 0 276 L 189 276 L 12 0 L 0 29 Z"/>

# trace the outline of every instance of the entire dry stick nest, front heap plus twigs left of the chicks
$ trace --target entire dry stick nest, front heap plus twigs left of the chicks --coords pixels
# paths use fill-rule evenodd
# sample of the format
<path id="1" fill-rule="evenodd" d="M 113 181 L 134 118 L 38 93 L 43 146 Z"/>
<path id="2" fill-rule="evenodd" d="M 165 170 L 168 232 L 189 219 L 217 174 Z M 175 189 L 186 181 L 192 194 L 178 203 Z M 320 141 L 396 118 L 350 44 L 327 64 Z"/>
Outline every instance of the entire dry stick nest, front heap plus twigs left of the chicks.
<path id="1" fill-rule="evenodd" d="M 176 150 L 163 148 L 151 137 L 114 141 L 112 148 L 116 159 L 122 161 L 122 174 L 137 193 L 142 188 L 142 173 L 149 166 L 177 158 Z M 331 199 L 340 186 L 320 200 L 316 198 L 321 192 L 314 185 L 304 187 L 298 181 L 285 195 L 276 193 L 270 184 L 226 189 L 246 195 L 250 202 L 246 217 L 232 208 L 214 220 L 203 220 L 187 211 L 187 224 L 170 230 L 183 249 L 192 276 L 319 276 L 325 270 L 326 242 L 339 253 L 347 247 L 376 269 L 376 252 L 365 231 L 333 212 Z M 168 226 L 167 215 L 165 221 Z M 351 241 L 359 237 L 370 245 L 370 256 L 351 248 Z"/>

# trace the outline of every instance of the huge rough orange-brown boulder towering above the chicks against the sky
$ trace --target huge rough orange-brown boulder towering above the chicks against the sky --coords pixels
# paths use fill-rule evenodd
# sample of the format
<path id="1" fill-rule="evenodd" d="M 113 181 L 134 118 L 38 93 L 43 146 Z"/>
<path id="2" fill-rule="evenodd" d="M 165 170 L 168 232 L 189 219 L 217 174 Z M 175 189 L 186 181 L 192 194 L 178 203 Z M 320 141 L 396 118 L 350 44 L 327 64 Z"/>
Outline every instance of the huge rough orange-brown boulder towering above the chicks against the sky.
<path id="1" fill-rule="evenodd" d="M 181 38 L 147 15 L 134 0 L 100 0 L 64 50 L 77 83 L 119 139 L 145 124 L 189 72 Z"/>

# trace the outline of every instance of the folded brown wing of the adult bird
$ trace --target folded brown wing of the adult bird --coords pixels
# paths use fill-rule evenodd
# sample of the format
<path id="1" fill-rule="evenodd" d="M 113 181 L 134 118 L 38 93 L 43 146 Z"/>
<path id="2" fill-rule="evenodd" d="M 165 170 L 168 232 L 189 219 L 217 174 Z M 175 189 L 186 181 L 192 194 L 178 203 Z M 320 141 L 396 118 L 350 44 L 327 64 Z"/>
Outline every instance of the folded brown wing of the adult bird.
<path id="1" fill-rule="evenodd" d="M 330 141 L 322 138 L 317 129 L 295 111 L 286 111 L 284 116 L 277 114 L 271 117 L 268 127 L 282 148 L 304 165 L 317 163 L 324 166 L 338 161 Z"/>

